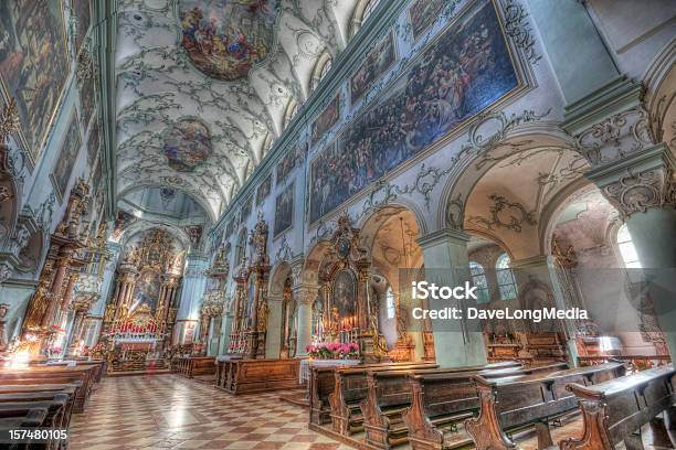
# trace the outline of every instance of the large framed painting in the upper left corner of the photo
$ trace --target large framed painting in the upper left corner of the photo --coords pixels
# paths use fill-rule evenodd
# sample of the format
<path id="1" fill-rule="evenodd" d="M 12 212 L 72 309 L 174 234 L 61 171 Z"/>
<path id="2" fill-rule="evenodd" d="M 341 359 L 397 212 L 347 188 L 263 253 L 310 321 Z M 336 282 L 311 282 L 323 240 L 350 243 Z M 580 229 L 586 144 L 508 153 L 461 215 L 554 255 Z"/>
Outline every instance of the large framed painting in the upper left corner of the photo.
<path id="1" fill-rule="evenodd" d="M 42 152 L 70 72 L 61 1 L 0 1 L 0 85 L 17 100 L 32 161 Z"/>

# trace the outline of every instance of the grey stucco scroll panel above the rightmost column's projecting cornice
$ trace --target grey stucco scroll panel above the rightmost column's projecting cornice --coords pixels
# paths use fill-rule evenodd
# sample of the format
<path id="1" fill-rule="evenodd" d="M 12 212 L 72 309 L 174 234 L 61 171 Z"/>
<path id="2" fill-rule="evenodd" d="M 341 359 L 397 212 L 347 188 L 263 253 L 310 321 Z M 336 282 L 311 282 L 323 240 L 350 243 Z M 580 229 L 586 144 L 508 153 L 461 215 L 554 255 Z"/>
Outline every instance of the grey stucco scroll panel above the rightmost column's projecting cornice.
<path id="1" fill-rule="evenodd" d="M 592 167 L 606 164 L 654 143 L 648 114 L 643 107 L 619 113 L 583 131 L 578 151 Z"/>

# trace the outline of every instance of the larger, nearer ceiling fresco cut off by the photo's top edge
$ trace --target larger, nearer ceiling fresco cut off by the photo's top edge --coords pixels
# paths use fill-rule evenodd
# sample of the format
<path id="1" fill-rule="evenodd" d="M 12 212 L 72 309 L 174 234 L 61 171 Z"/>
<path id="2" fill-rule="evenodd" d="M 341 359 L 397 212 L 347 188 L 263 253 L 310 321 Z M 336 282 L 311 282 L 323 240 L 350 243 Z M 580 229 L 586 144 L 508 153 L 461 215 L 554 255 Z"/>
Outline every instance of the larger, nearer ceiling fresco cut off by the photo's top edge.
<path id="1" fill-rule="evenodd" d="M 182 46 L 205 75 L 245 77 L 272 50 L 278 0 L 180 0 Z"/>

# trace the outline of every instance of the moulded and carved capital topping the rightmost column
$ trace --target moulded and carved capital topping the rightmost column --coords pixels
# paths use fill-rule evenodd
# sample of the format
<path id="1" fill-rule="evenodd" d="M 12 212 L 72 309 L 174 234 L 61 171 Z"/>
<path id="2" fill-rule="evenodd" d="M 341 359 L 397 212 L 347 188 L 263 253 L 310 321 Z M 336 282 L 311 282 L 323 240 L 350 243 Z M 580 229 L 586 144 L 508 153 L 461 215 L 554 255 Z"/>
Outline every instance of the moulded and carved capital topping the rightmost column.
<path id="1" fill-rule="evenodd" d="M 676 158 L 665 142 L 585 176 L 594 182 L 623 219 L 634 213 L 676 204 Z"/>

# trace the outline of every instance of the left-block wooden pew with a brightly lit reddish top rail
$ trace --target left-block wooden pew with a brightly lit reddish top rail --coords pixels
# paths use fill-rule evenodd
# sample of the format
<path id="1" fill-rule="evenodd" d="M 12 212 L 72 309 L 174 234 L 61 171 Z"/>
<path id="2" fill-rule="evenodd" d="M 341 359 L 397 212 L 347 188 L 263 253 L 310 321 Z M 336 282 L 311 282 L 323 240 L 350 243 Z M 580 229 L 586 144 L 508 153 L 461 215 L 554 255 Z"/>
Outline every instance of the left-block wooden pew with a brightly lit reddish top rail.
<path id="1" fill-rule="evenodd" d="M 94 384 L 95 366 L 31 366 L 28 368 L 0 368 L 0 384 L 71 384 L 81 382 L 76 390 L 74 413 L 83 413 Z"/>

